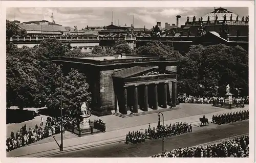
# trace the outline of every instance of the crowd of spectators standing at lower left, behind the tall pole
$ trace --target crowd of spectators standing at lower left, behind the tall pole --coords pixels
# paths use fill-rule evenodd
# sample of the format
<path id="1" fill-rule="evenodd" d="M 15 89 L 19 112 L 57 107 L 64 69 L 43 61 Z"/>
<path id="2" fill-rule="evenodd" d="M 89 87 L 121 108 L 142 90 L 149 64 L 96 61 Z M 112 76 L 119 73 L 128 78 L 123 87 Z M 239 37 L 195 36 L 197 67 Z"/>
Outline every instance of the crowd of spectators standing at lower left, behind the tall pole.
<path id="1" fill-rule="evenodd" d="M 61 132 L 60 118 L 48 117 L 44 128 L 41 127 L 42 125 L 44 125 L 44 119 L 41 117 L 40 126 L 35 125 L 35 128 L 29 127 L 27 130 L 25 124 L 20 130 L 16 131 L 16 135 L 12 131 L 11 137 L 6 140 L 6 150 L 11 151 Z M 65 132 L 64 127 L 62 131 Z"/>

